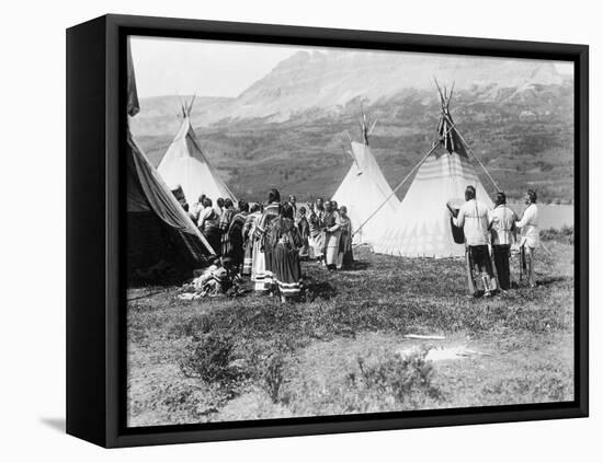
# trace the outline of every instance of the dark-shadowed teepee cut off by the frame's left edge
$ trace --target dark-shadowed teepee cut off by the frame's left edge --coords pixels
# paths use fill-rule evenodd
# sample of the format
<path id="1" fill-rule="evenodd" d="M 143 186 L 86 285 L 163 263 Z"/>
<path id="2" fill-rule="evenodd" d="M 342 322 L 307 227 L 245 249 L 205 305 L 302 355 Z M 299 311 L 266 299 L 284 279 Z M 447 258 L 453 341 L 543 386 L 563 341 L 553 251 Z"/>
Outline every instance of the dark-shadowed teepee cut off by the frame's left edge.
<path id="1" fill-rule="evenodd" d="M 128 44 L 129 45 L 129 44 Z M 139 112 L 128 46 L 128 116 Z M 126 158 L 126 262 L 128 276 L 151 279 L 149 269 L 170 268 L 172 277 L 189 277 L 214 254 L 205 238 L 136 143 L 129 125 Z"/>

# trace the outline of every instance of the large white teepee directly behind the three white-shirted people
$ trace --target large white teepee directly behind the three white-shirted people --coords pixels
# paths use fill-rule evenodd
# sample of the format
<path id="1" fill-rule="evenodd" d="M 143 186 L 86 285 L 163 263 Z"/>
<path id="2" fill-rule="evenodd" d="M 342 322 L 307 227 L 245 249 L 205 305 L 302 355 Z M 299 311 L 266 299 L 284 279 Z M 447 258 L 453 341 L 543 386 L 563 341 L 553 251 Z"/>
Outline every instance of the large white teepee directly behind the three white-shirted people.
<path id="1" fill-rule="evenodd" d="M 374 251 L 406 257 L 454 257 L 465 254 L 451 230 L 446 202 L 464 200 L 465 188 L 476 188 L 476 199 L 488 208 L 493 204 L 467 154 L 463 136 L 453 123 L 450 105 L 452 91 L 437 86 L 442 114 L 439 140 L 420 163 L 417 174 L 389 227 L 383 230 Z"/>

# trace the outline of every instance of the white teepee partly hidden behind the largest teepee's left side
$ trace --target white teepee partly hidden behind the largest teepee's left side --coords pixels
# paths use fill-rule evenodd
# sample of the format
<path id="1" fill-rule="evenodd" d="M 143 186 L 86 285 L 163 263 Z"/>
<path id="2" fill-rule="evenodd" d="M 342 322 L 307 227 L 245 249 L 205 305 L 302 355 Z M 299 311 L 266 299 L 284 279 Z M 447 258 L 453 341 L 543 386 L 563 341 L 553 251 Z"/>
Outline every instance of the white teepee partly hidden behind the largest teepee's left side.
<path id="1" fill-rule="evenodd" d="M 383 229 L 400 206 L 400 201 L 385 180 L 368 147 L 368 136 L 374 127 L 375 123 L 371 123 L 363 114 L 361 120 L 363 142 L 351 141 L 351 151 L 346 152 L 353 162 L 332 197 L 340 207 L 348 208 L 354 242 L 371 246 L 376 245 Z M 379 207 L 380 209 L 375 213 Z"/>

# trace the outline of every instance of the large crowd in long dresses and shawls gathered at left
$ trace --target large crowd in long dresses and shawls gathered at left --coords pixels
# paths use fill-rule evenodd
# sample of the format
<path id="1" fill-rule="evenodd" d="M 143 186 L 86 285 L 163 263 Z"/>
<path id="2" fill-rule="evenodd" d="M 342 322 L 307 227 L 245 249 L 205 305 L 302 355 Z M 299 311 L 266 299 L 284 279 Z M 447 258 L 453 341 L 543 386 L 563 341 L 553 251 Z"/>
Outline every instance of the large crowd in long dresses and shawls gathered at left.
<path id="1" fill-rule="evenodd" d="M 335 201 L 318 198 L 306 208 L 293 195 L 281 201 L 273 188 L 265 204 L 217 198 L 214 205 L 202 195 L 185 209 L 223 265 L 249 276 L 255 291 L 278 292 L 283 302 L 302 292 L 302 259 L 316 259 L 329 270 L 353 262 L 352 222 Z"/>

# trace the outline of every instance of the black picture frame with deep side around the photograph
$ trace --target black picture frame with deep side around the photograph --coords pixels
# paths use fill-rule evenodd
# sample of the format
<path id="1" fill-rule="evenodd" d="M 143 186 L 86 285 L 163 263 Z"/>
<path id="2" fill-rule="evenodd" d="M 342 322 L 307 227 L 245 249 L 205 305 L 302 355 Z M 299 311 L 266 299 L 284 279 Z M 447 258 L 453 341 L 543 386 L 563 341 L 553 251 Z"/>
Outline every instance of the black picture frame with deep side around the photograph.
<path id="1" fill-rule="evenodd" d="M 149 428 L 125 427 L 124 175 L 126 37 L 337 46 L 574 65 L 577 227 L 574 401 Z M 385 32 L 104 15 L 67 30 L 67 432 L 99 445 L 585 417 L 589 413 L 589 48 Z"/>

